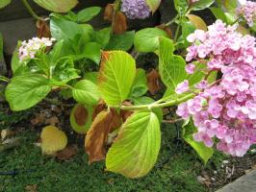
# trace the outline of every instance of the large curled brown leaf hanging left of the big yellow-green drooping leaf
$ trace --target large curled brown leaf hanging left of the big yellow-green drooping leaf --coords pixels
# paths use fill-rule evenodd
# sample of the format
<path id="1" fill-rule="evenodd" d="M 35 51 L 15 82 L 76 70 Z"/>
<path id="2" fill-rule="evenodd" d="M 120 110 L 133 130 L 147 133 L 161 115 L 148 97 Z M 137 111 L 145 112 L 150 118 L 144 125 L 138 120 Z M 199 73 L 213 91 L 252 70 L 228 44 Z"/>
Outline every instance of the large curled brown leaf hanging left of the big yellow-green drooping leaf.
<path id="1" fill-rule="evenodd" d="M 105 158 L 108 134 L 120 125 L 120 117 L 115 109 L 102 110 L 97 114 L 85 139 L 89 163 Z"/>

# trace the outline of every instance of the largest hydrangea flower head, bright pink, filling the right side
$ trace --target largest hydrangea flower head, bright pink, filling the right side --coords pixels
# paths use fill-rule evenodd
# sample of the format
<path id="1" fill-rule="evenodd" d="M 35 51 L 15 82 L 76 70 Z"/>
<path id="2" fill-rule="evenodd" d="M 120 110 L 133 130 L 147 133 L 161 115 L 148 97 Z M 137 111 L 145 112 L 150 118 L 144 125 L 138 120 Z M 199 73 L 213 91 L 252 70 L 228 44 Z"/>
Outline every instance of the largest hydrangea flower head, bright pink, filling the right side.
<path id="1" fill-rule="evenodd" d="M 196 30 L 188 36 L 192 46 L 186 60 L 207 60 L 207 72 L 218 71 L 221 78 L 196 84 L 199 93 L 176 112 L 184 119 L 192 117 L 198 131 L 195 141 L 208 147 L 217 141 L 219 151 L 243 156 L 256 144 L 256 48 L 254 36 L 243 36 L 236 29 L 217 20 L 208 32 Z M 193 63 L 187 72 L 193 73 Z M 177 93 L 181 90 L 188 91 L 186 81 L 177 86 Z"/>

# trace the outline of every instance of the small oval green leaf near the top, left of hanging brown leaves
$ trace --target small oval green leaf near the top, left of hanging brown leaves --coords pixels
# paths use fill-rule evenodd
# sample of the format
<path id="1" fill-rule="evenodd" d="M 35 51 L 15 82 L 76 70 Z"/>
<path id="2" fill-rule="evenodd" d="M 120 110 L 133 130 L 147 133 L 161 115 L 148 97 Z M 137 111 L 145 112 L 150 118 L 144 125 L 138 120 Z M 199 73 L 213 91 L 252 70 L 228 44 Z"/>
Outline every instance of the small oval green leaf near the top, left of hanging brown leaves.
<path id="1" fill-rule="evenodd" d="M 94 16 L 100 12 L 100 7 L 90 7 L 86 8 L 77 13 L 77 22 L 85 23 L 90 21 Z"/>

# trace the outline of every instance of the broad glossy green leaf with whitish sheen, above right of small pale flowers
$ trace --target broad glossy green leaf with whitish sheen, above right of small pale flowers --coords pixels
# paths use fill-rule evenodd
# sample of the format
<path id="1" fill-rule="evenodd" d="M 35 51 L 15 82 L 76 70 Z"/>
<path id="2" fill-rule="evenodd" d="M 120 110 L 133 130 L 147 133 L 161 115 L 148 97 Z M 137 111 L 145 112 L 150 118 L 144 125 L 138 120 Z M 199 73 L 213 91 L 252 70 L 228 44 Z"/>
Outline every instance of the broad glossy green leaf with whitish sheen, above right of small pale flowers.
<path id="1" fill-rule="evenodd" d="M 84 33 L 81 25 L 56 17 L 51 17 L 50 30 L 51 35 L 57 40 L 74 39 L 76 36 Z"/>

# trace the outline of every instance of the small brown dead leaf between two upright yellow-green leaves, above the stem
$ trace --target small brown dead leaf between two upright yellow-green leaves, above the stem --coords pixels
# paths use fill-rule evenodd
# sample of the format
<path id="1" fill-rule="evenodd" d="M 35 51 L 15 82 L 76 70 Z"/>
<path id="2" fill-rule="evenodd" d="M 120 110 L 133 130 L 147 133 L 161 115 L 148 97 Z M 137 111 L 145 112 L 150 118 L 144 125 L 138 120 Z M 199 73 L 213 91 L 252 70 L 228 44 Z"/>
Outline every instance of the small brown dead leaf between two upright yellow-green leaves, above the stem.
<path id="1" fill-rule="evenodd" d="M 156 69 L 152 69 L 147 75 L 147 85 L 149 92 L 154 95 L 160 90 L 160 75 Z"/>

